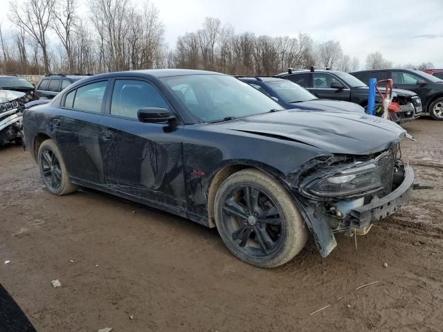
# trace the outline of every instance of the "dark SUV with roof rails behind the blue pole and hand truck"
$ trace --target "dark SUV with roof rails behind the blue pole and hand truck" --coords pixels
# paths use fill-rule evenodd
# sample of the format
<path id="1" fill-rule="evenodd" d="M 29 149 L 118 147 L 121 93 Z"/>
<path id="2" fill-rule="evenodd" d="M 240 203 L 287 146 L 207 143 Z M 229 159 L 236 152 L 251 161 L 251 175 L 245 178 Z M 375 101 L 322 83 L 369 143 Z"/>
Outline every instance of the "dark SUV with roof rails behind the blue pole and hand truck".
<path id="1" fill-rule="evenodd" d="M 369 88 L 356 77 L 343 71 L 293 70 L 289 68 L 286 73 L 278 76 L 303 86 L 305 89 L 322 99 L 345 100 L 355 102 L 363 107 L 368 105 Z M 394 102 L 400 105 L 398 116 L 400 122 L 414 120 L 422 112 L 422 102 L 416 93 L 407 90 L 395 89 Z M 380 98 L 376 95 L 376 101 Z"/>

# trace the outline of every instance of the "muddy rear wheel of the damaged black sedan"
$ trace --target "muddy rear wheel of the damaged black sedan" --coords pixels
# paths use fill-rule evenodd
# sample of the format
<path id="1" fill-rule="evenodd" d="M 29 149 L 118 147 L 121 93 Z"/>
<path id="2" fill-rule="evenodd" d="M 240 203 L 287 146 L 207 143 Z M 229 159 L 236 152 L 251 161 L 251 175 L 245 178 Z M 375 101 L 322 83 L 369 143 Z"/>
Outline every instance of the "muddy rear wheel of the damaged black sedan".
<path id="1" fill-rule="evenodd" d="M 51 194 L 62 196 L 78 189 L 69 181 L 62 154 L 53 140 L 42 142 L 37 157 L 40 175 Z"/>

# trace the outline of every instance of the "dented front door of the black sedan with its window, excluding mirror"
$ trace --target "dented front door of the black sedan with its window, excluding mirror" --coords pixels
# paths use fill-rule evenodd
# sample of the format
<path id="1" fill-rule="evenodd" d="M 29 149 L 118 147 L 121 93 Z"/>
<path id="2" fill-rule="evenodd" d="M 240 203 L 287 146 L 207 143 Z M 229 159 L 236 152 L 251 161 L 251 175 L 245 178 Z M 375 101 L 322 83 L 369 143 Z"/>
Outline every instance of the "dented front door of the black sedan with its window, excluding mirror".
<path id="1" fill-rule="evenodd" d="M 114 80 L 100 149 L 110 190 L 186 209 L 181 127 L 138 121 L 138 109 L 172 105 L 150 81 Z M 186 98 L 186 93 L 185 97 Z"/>

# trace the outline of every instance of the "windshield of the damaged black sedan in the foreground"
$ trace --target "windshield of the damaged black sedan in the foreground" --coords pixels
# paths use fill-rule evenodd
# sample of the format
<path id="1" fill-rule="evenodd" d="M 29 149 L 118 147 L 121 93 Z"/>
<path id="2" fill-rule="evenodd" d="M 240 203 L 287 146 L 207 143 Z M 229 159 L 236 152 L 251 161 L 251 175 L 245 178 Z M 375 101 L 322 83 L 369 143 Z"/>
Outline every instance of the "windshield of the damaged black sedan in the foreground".
<path id="1" fill-rule="evenodd" d="M 201 122 L 244 118 L 282 109 L 252 86 L 227 75 L 186 75 L 161 80 Z"/>

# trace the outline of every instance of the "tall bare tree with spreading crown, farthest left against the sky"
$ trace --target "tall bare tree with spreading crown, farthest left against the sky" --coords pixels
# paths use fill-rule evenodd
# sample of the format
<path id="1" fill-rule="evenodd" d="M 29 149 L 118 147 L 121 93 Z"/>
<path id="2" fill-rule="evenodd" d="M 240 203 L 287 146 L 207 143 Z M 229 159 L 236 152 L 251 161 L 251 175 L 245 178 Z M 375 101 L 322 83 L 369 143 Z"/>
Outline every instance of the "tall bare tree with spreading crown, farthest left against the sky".
<path id="1" fill-rule="evenodd" d="M 11 21 L 23 28 L 42 49 L 44 71 L 49 73 L 47 30 L 53 19 L 54 0 L 26 0 L 20 6 L 10 2 Z"/>

